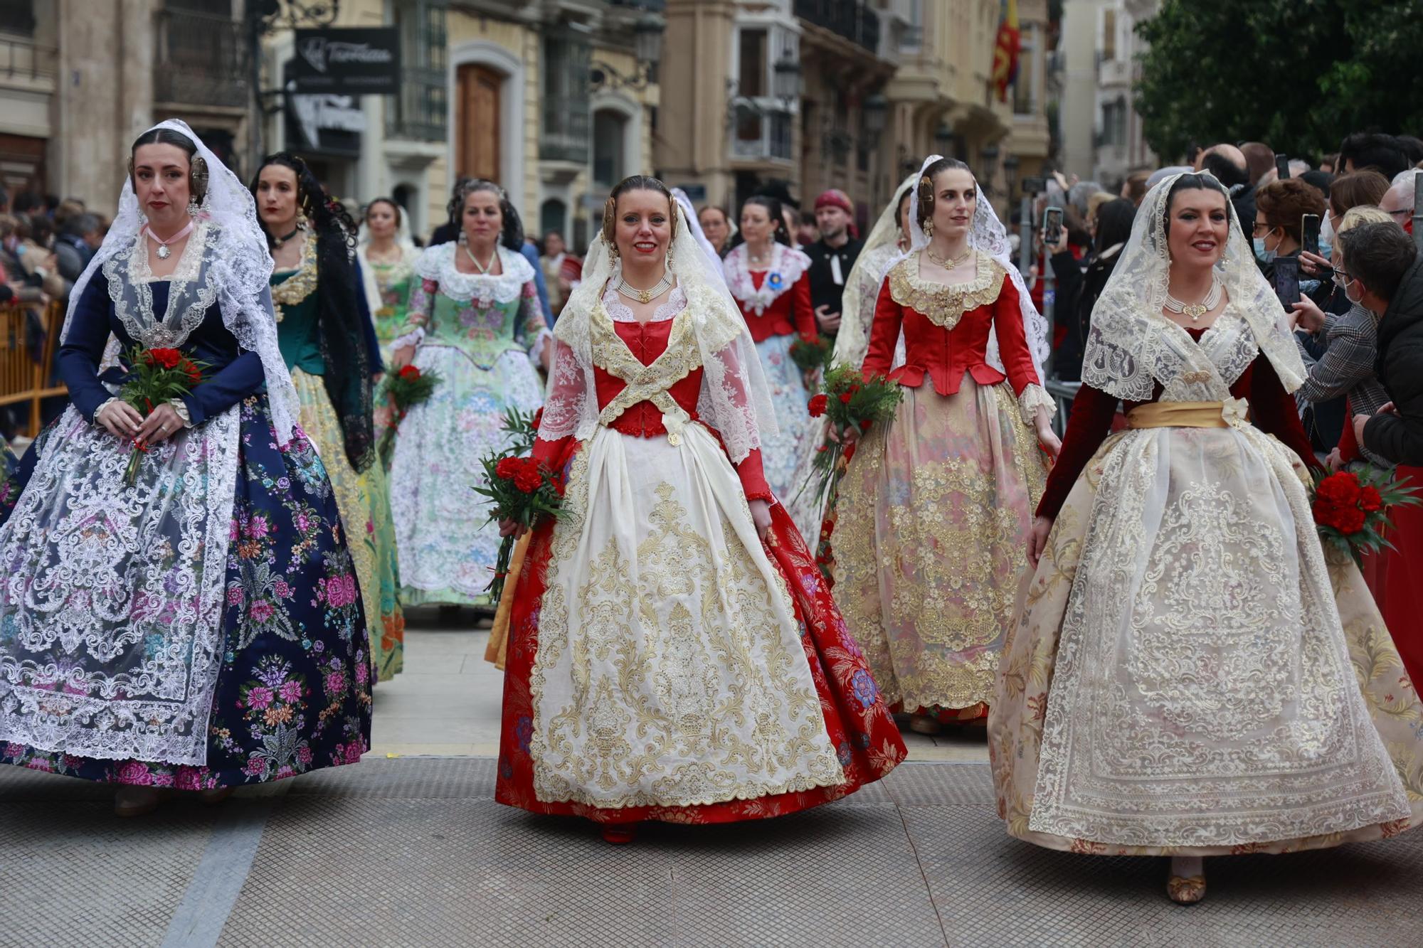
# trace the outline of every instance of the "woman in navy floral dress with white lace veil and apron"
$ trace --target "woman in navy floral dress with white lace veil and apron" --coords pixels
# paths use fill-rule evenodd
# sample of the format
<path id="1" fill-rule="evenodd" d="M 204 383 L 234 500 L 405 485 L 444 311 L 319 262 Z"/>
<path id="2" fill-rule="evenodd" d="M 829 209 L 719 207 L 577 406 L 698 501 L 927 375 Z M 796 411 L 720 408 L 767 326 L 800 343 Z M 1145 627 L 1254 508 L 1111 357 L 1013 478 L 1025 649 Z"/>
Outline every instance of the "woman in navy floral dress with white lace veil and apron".
<path id="1" fill-rule="evenodd" d="M 370 742 L 366 621 L 270 268 L 242 182 L 184 122 L 144 132 L 70 297 L 73 404 L 0 504 L 0 760 L 118 783 L 121 816 Z M 100 373 L 110 333 L 125 352 Z M 144 416 L 115 397 L 134 347 L 203 377 Z"/>

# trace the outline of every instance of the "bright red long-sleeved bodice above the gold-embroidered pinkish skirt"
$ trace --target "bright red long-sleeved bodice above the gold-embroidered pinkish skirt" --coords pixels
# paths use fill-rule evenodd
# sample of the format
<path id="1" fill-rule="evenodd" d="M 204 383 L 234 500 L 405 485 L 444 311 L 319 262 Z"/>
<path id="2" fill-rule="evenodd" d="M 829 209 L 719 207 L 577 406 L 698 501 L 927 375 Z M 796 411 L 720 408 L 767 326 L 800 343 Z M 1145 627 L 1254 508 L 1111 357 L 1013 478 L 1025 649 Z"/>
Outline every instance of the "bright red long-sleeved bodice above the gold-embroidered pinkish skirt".
<path id="1" fill-rule="evenodd" d="M 901 327 L 905 364 L 889 372 Z M 988 364 L 988 340 L 992 332 L 998 333 L 998 349 L 1007 370 L 1006 376 Z M 952 329 L 933 323 L 914 306 L 899 303 L 894 297 L 889 279 L 885 279 L 875 303 L 875 320 L 869 327 L 865 377 L 887 374 L 891 381 L 918 389 L 928 376 L 933 390 L 942 396 L 958 391 L 965 373 L 980 386 L 993 386 L 1006 377 L 1013 386 L 1013 393 L 1023 394 L 1023 389 L 1029 384 L 1042 384 L 1023 333 L 1017 289 L 1006 275 L 998 299 L 986 306 L 966 310 Z"/>

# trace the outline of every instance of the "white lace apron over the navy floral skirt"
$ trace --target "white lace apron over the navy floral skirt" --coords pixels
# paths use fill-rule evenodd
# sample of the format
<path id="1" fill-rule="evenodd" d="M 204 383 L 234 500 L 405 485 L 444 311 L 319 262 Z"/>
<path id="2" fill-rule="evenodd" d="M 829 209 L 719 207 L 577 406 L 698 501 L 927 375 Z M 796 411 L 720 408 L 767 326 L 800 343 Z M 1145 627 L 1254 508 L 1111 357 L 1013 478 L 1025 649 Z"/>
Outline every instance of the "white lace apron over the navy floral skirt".
<path id="1" fill-rule="evenodd" d="M 0 740 L 203 764 L 239 407 L 129 447 L 73 406 L 0 527 Z"/>

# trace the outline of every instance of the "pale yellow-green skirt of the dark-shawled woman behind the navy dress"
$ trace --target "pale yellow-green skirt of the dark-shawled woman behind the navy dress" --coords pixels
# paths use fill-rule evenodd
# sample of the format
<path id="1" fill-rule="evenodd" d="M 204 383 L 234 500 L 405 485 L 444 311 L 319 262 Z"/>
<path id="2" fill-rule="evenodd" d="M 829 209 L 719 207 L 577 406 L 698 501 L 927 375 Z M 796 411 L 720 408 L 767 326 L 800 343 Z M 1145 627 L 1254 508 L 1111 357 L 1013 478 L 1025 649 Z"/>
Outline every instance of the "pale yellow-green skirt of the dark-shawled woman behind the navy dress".
<path id="1" fill-rule="evenodd" d="M 377 460 L 357 474 L 346 458 L 342 426 L 322 377 L 293 369 L 292 381 L 302 399 L 302 430 L 332 477 L 370 623 L 371 665 L 376 680 L 384 682 L 406 663 L 406 613 L 400 606 L 400 565 L 386 468 Z"/>

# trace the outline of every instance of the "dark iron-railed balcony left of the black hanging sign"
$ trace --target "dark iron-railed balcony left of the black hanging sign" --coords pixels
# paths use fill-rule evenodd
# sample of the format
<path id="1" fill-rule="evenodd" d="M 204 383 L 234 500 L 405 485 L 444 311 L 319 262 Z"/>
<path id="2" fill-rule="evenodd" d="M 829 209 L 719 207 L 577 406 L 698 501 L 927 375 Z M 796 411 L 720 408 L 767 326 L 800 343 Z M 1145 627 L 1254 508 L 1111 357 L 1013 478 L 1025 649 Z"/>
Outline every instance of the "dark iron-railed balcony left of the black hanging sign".
<path id="1" fill-rule="evenodd" d="M 252 94 L 242 24 L 194 10 L 157 14 L 154 101 L 246 108 Z"/>

